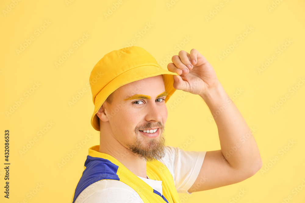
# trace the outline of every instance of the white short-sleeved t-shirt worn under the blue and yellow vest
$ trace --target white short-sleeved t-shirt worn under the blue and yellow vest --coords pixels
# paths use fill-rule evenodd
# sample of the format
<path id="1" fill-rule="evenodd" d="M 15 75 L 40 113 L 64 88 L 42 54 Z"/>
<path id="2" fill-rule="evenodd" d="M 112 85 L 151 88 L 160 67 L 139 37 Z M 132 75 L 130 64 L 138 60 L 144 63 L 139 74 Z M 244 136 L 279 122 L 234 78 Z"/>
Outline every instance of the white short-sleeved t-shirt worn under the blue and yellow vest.
<path id="1" fill-rule="evenodd" d="M 166 146 L 163 163 L 174 178 L 178 193 L 188 193 L 194 184 L 206 152 L 184 151 L 178 147 Z M 162 181 L 141 178 L 162 195 Z M 148 177 L 149 178 L 149 177 Z M 86 187 L 75 203 L 144 203 L 138 193 L 127 184 L 117 180 L 99 180 Z"/>

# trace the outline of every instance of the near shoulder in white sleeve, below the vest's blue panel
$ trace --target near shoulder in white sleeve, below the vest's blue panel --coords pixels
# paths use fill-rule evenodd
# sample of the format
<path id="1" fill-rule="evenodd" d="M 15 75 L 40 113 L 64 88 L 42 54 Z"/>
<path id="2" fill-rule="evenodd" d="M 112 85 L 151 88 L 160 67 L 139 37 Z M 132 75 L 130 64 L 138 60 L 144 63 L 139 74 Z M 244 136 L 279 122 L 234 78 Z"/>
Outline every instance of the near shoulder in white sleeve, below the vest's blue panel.
<path id="1" fill-rule="evenodd" d="M 118 180 L 99 180 L 86 187 L 75 203 L 135 202 L 143 203 L 138 193 Z"/>

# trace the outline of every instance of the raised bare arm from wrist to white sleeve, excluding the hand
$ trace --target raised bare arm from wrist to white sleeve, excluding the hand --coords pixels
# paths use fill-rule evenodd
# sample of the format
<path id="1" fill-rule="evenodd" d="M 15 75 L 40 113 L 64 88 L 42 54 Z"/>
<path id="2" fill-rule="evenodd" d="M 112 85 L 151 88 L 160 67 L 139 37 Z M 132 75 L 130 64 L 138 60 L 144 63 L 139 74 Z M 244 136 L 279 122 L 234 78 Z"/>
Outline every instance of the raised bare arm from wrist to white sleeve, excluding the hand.
<path id="1" fill-rule="evenodd" d="M 262 166 L 256 141 L 221 83 L 200 96 L 217 124 L 221 150 L 206 152 L 199 175 L 188 192 L 238 183 L 253 176 Z M 205 182 L 197 184 L 202 178 Z"/>

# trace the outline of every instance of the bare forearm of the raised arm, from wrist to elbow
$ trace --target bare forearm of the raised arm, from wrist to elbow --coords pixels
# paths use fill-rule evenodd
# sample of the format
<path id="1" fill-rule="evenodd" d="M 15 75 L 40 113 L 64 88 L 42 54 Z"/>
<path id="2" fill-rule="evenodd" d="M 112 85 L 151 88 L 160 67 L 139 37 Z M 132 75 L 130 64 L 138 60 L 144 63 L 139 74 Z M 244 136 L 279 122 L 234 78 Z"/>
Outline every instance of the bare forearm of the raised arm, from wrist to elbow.
<path id="1" fill-rule="evenodd" d="M 259 170 L 261 159 L 256 141 L 221 83 L 200 96 L 206 102 L 217 124 L 224 161 L 227 160 L 236 170 Z"/>

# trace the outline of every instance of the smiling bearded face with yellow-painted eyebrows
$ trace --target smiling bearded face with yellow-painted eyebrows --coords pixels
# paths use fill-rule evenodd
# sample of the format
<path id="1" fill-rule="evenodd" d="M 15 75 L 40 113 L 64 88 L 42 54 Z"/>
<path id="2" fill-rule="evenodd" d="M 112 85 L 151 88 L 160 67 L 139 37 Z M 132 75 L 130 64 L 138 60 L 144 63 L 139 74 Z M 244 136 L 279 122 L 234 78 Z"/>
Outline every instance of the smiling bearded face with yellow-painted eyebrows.
<path id="1" fill-rule="evenodd" d="M 117 140 L 116 144 L 146 161 L 162 158 L 164 125 L 167 120 L 166 95 L 162 75 L 131 82 L 116 89 L 113 103 L 104 103 L 112 131 L 110 134 Z M 157 130 L 150 133 L 144 132 L 145 129 Z"/>

